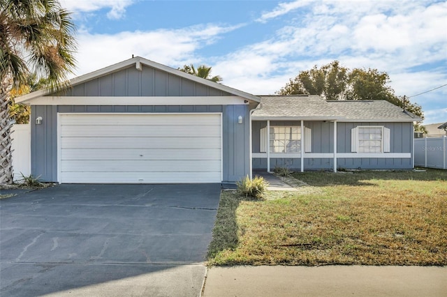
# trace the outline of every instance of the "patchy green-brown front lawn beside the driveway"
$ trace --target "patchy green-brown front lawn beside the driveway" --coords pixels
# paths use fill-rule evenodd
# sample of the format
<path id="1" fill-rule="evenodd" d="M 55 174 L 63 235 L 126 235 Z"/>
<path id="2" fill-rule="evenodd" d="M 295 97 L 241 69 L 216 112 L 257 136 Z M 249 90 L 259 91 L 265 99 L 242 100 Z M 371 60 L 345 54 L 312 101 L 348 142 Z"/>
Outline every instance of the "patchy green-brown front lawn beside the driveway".
<path id="1" fill-rule="evenodd" d="M 310 172 L 250 200 L 224 191 L 210 265 L 447 265 L 447 171 Z"/>

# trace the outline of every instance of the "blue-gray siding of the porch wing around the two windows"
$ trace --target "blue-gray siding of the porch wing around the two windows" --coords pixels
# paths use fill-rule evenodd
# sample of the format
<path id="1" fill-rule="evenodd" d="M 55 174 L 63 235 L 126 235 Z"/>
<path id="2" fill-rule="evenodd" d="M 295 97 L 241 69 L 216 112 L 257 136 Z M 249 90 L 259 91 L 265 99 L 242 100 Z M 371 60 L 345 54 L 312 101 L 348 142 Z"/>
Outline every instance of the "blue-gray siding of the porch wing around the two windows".
<path id="1" fill-rule="evenodd" d="M 297 125 L 300 121 L 270 121 L 274 125 Z M 306 128 L 311 129 L 311 153 L 334 152 L 334 123 L 330 121 L 304 121 Z M 413 139 L 411 138 L 413 124 L 410 122 L 341 122 L 337 121 L 337 154 L 351 153 L 351 129 L 356 126 L 384 126 L 390 129 L 390 153 L 413 153 Z M 267 126 L 267 121 L 253 121 L 252 148 L 253 153 L 261 153 L 261 129 Z M 307 153 L 306 153 L 307 154 Z M 309 158 L 305 154 L 304 169 L 319 170 L 333 169 L 333 157 Z M 307 154 L 309 155 L 309 154 Z M 383 155 L 386 155 L 384 153 Z M 300 170 L 300 158 L 270 158 L 270 168 L 288 167 Z M 337 157 L 339 169 L 412 169 L 411 158 L 340 158 Z M 253 169 L 267 169 L 267 158 L 253 158 Z"/>

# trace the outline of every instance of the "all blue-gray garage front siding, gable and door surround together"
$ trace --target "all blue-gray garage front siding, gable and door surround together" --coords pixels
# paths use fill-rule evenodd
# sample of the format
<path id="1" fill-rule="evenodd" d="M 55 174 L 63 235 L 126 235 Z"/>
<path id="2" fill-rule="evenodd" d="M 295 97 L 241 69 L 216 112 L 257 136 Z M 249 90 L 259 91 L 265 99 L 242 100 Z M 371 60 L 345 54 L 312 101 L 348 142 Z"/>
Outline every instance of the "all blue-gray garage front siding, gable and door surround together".
<path id="1" fill-rule="evenodd" d="M 172 73 L 135 64 L 74 84 L 60 96 L 73 97 L 191 97 L 237 96 L 212 86 L 200 84 Z M 49 95 L 54 96 L 54 95 Z M 249 174 L 249 112 L 256 105 L 32 105 L 31 104 L 31 174 L 42 181 L 57 182 L 57 114 L 58 113 L 219 113 L 222 119 L 222 182 L 234 183 Z M 41 125 L 36 125 L 42 116 Z M 242 116 L 243 123 L 238 123 Z M 200 181 L 197 181 L 200 183 Z"/>

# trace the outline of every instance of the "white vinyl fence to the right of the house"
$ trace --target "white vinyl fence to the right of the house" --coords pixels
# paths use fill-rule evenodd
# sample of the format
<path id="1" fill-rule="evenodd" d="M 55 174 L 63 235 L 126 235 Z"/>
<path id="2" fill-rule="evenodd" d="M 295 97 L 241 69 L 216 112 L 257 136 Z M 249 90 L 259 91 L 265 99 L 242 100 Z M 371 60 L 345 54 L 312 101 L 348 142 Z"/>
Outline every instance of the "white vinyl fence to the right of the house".
<path id="1" fill-rule="evenodd" d="M 447 169 L 447 137 L 414 139 L 414 165 Z"/>

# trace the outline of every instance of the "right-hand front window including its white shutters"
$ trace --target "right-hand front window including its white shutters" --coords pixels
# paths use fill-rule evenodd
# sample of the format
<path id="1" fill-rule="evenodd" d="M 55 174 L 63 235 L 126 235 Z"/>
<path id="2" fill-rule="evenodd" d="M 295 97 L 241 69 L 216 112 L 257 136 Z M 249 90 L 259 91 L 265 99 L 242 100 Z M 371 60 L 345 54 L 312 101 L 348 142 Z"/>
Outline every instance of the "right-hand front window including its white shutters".
<path id="1" fill-rule="evenodd" d="M 351 151 L 355 153 L 388 153 L 390 151 L 390 129 L 383 126 L 352 128 Z"/>

